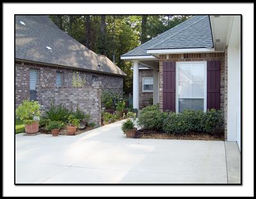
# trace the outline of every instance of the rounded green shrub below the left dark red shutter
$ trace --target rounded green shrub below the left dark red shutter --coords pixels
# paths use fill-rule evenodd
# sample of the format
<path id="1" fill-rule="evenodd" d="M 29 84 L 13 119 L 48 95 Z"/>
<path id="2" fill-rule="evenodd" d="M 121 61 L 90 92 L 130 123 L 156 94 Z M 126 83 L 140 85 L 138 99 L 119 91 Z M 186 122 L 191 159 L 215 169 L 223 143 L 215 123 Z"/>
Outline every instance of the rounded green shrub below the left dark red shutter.
<path id="1" fill-rule="evenodd" d="M 147 129 L 160 130 L 166 114 L 159 109 L 159 105 L 144 107 L 138 116 L 138 125 Z"/>

